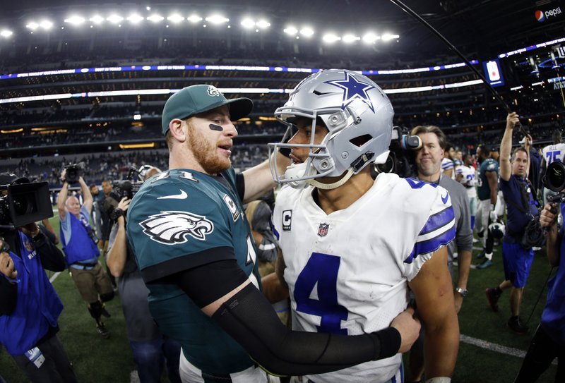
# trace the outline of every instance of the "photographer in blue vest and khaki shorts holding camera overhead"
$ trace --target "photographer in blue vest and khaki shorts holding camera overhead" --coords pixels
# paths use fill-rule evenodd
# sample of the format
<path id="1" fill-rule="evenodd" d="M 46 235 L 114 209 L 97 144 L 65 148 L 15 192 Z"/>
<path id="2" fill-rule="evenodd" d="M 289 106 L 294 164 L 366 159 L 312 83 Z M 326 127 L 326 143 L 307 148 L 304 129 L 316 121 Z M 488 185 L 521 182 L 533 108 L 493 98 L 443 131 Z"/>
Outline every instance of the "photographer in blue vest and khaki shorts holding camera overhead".
<path id="1" fill-rule="evenodd" d="M 90 194 L 83 177 L 75 174 L 74 171 L 72 175 L 73 177 L 69 178 L 67 169 L 62 171 L 63 186 L 57 197 L 57 208 L 61 222 L 61 242 L 63 243 L 66 262 L 69 265 L 69 272 L 71 272 L 73 281 L 83 300 L 88 305 L 90 316 L 96 321 L 97 332 L 102 338 L 108 338 L 109 332 L 100 318 L 102 315 L 110 316 L 104 307 L 104 302 L 114 298 L 114 289 L 108 275 L 98 261 L 100 256 L 100 250 L 97 248 L 98 240 L 90 226 L 93 196 Z M 83 193 L 82 206 L 74 195 L 67 197 L 69 183 L 76 181 L 81 185 Z"/>

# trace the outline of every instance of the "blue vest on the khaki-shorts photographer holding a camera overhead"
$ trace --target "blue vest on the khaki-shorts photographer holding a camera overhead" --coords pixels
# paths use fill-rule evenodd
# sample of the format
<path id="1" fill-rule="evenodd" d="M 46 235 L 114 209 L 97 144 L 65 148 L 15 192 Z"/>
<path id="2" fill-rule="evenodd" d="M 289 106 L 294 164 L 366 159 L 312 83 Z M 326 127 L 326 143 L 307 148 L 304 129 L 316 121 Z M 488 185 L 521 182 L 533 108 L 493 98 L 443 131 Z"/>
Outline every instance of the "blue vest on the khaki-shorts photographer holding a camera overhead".
<path id="1" fill-rule="evenodd" d="M 81 209 L 81 214 L 83 214 L 82 210 L 83 209 Z M 90 236 L 88 236 L 88 233 L 83 224 L 81 224 L 81 221 L 69 212 L 66 214 L 69 214 L 71 222 L 71 241 L 67 243 L 62 228 L 59 229 L 59 233 L 61 234 L 61 242 L 63 243 L 63 251 L 66 255 L 67 265 L 73 265 L 73 263 L 76 262 L 98 258 L 100 250 L 98 250 L 94 241 L 90 238 Z M 88 220 L 88 217 L 85 218 Z"/>

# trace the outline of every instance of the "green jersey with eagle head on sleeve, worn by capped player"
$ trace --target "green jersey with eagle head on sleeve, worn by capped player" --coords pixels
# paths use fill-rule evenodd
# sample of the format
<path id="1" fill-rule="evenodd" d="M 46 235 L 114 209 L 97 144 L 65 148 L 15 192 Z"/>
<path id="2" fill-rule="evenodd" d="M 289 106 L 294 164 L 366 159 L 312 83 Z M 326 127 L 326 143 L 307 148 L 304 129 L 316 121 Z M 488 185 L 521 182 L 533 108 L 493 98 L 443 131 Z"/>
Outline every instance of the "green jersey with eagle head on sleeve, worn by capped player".
<path id="1" fill-rule="evenodd" d="M 256 249 L 234 170 L 221 177 L 225 181 L 174 169 L 145 181 L 129 206 L 127 236 L 160 330 L 182 344 L 186 359 L 196 367 L 229 374 L 254 364 L 246 351 L 179 286 L 158 282 L 184 269 L 229 259 L 222 248 L 232 248 L 239 267 L 260 288 Z"/>

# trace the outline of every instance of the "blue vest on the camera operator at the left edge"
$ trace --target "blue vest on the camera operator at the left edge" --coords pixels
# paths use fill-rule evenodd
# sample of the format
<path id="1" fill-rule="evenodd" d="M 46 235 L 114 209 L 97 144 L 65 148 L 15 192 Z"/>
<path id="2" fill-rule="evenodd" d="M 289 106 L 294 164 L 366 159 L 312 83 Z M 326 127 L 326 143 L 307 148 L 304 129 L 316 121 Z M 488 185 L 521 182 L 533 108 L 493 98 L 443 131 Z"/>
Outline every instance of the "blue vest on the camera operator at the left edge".
<path id="1" fill-rule="evenodd" d="M 49 282 L 31 239 L 19 234 L 22 256 L 10 252 L 18 271 L 18 300 L 10 315 L 0 315 L 0 343 L 11 355 L 21 355 L 33 348 L 49 327 L 57 326 L 63 311 L 63 303 Z"/>

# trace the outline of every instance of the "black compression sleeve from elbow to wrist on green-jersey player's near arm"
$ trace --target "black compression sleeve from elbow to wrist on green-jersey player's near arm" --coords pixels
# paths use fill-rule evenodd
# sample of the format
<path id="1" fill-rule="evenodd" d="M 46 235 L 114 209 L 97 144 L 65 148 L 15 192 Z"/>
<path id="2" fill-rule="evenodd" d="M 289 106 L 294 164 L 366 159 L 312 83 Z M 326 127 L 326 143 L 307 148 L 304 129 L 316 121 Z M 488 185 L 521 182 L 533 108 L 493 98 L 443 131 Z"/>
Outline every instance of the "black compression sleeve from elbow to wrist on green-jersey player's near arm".
<path id="1" fill-rule="evenodd" d="M 260 291 L 249 284 L 215 312 L 222 329 L 251 358 L 275 375 L 307 375 L 388 358 L 400 348 L 400 333 L 389 328 L 373 334 L 343 336 L 287 329 Z"/>

